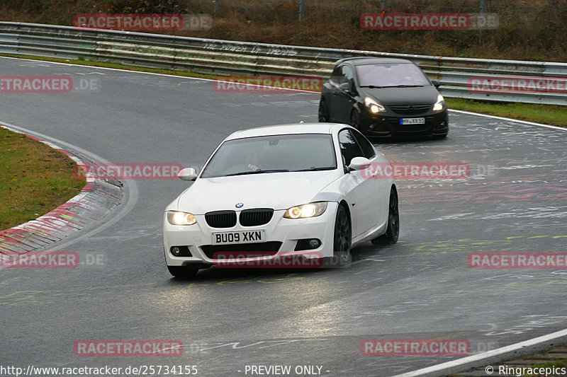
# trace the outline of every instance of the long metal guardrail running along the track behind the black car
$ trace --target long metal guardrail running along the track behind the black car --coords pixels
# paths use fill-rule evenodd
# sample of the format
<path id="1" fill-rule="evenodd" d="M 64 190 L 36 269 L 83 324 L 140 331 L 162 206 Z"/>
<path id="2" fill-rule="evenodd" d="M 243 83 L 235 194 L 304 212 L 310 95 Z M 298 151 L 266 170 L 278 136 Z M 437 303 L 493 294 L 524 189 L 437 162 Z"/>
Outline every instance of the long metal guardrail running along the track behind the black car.
<path id="1" fill-rule="evenodd" d="M 441 81 L 440 90 L 447 97 L 567 105 L 567 63 L 430 57 L 10 22 L 0 22 L 0 53 L 190 69 L 217 75 L 323 77 L 330 76 L 335 62 L 345 57 L 398 57 L 415 62 L 431 79 Z M 548 84 L 541 91 L 489 93 L 471 90 L 474 78 L 516 82 L 537 78 Z"/>

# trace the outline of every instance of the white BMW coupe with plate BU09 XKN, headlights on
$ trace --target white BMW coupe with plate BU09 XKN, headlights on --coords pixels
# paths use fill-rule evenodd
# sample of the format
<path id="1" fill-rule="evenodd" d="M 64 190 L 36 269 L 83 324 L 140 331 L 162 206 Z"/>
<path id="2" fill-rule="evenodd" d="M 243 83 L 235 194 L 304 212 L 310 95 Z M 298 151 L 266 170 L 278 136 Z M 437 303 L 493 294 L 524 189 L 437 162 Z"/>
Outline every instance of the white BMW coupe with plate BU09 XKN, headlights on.
<path id="1" fill-rule="evenodd" d="M 245 262 L 308 253 L 341 264 L 360 243 L 397 242 L 395 181 L 373 173 L 380 170 L 375 164 L 390 165 L 346 124 L 231 134 L 200 174 L 179 171 L 181 180 L 194 182 L 165 209 L 169 272 L 193 277 L 225 252 L 240 253 Z"/>

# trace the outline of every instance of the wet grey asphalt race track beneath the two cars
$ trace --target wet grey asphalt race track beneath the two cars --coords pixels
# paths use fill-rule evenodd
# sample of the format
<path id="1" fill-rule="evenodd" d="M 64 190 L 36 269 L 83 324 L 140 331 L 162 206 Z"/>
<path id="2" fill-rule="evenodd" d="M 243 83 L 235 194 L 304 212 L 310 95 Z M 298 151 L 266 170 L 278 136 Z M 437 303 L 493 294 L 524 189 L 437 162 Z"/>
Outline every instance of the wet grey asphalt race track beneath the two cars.
<path id="1" fill-rule="evenodd" d="M 1 93 L 0 122 L 113 163 L 200 166 L 237 129 L 317 120 L 315 93 L 218 93 L 210 81 L 5 58 L 0 73 L 100 79 L 94 93 Z M 348 269 L 172 279 L 162 211 L 187 184 L 125 182 L 124 202 L 106 219 L 114 224 L 50 248 L 101 265 L 0 270 L 0 365 L 175 364 L 198 366 L 198 376 L 251 376 L 247 365 L 279 364 L 391 376 L 456 357 L 364 356 L 362 340 L 465 339 L 475 353 L 567 327 L 565 269 L 467 264 L 471 252 L 566 251 L 567 132 L 457 112 L 450 122 L 446 140 L 376 141 L 391 161 L 461 161 L 471 178 L 398 181 L 399 243 L 355 249 Z M 135 339 L 181 340 L 185 351 L 73 352 L 77 340 Z"/>

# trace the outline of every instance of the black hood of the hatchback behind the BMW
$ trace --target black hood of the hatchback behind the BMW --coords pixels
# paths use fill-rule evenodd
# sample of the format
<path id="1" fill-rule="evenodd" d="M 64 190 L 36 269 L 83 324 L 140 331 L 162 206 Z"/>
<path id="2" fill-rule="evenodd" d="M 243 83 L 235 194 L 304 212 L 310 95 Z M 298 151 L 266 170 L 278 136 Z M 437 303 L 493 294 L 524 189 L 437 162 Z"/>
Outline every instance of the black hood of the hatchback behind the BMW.
<path id="1" fill-rule="evenodd" d="M 422 105 L 437 102 L 439 92 L 434 86 L 414 88 L 361 88 L 364 95 L 380 101 L 383 105 Z"/>

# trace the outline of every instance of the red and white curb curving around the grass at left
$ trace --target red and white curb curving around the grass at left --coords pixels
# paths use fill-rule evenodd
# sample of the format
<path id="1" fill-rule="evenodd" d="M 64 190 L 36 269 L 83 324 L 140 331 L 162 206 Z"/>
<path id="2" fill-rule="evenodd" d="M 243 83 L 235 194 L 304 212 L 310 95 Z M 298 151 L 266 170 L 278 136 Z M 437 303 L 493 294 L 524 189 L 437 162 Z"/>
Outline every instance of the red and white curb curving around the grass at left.
<path id="1" fill-rule="evenodd" d="M 39 139 L 5 124 L 0 124 L 0 127 L 40 141 L 52 149 L 64 153 L 77 165 L 84 165 L 79 157 L 50 141 Z M 123 192 L 117 185 L 96 178 L 91 174 L 86 174 L 85 178 L 86 185 L 83 190 L 60 207 L 35 220 L 0 231 L 0 258 L 43 249 L 60 241 L 79 231 L 79 229 L 94 224 L 103 216 L 106 216 L 122 200 Z"/>

